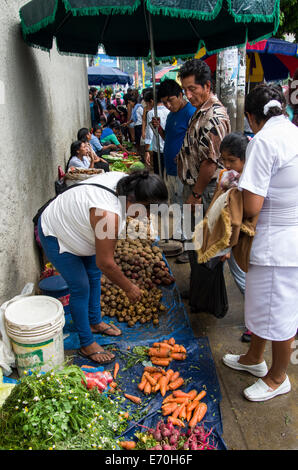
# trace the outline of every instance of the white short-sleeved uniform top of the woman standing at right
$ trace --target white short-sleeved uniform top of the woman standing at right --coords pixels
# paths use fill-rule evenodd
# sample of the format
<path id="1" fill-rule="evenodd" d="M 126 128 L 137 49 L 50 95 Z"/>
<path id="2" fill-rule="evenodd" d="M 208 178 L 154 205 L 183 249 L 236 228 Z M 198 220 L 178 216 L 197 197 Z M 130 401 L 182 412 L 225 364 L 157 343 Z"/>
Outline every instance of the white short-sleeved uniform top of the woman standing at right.
<path id="1" fill-rule="evenodd" d="M 298 128 L 269 119 L 249 142 L 240 189 L 263 196 L 250 263 L 298 266 Z"/>

